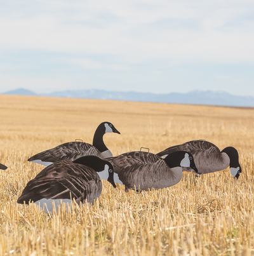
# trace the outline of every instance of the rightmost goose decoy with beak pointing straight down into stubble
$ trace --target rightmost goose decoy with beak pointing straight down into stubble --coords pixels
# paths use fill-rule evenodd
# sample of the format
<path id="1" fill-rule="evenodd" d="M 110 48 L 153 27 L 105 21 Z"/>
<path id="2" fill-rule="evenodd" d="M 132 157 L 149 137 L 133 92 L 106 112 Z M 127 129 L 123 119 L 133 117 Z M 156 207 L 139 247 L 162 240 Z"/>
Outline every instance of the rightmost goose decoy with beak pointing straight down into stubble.
<path id="1" fill-rule="evenodd" d="M 234 147 L 226 147 L 220 151 L 216 145 L 206 140 L 192 140 L 181 145 L 168 147 L 157 155 L 164 158 L 177 151 L 187 151 L 192 154 L 198 174 L 218 172 L 230 166 L 231 174 L 238 179 L 242 172 L 238 152 Z M 184 168 L 184 170 L 191 172 L 190 168 Z"/>

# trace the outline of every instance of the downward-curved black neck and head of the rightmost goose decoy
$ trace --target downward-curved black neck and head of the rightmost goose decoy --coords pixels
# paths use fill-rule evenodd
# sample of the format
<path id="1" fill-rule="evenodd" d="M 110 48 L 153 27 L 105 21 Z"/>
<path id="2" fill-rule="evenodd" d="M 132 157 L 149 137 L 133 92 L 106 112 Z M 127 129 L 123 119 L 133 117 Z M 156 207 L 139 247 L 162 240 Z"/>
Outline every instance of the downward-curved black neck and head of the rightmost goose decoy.
<path id="1" fill-rule="evenodd" d="M 239 164 L 239 154 L 237 150 L 234 147 L 225 147 L 222 152 L 229 156 L 229 168 L 231 170 L 231 174 L 234 176 L 234 178 L 238 179 L 240 173 L 242 172 L 242 168 Z"/>

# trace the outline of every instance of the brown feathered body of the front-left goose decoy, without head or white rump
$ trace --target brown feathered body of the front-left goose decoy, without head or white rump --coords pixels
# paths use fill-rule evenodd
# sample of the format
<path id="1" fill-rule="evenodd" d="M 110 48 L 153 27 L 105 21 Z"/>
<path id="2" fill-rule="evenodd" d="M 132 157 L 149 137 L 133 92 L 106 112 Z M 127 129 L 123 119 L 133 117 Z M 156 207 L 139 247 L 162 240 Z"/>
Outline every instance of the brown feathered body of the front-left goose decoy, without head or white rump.
<path id="1" fill-rule="evenodd" d="M 18 203 L 28 203 L 40 199 L 70 199 L 84 201 L 87 193 L 91 192 L 91 181 L 99 185 L 97 173 L 83 165 L 71 161 L 61 161 L 50 165 L 30 180 L 25 187 Z"/>

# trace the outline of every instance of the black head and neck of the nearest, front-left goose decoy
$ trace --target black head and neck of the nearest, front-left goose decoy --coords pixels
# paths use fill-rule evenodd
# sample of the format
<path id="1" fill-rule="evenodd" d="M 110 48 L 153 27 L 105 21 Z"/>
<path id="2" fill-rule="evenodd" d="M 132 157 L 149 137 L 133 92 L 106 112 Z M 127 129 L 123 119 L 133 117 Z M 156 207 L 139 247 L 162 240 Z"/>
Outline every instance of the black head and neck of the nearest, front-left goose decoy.
<path id="1" fill-rule="evenodd" d="M 116 188 L 116 184 L 114 182 L 114 167 L 109 161 L 98 158 L 98 156 L 82 156 L 72 162 L 92 168 L 98 173 L 100 179 L 107 180 Z"/>

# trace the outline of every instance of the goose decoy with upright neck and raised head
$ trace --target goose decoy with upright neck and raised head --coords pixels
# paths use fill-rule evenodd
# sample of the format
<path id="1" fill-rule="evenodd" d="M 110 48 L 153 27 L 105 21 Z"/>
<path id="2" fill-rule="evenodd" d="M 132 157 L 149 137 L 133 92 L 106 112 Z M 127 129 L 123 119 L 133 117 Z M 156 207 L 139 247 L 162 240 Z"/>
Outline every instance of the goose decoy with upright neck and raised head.
<path id="1" fill-rule="evenodd" d="M 119 133 L 112 123 L 103 122 L 95 131 L 95 135 L 93 136 L 93 145 L 86 142 L 67 142 L 58 145 L 53 149 L 40 152 L 29 158 L 27 161 L 49 166 L 51 163 L 55 163 L 63 159 L 75 160 L 77 158 L 81 158 L 81 156 L 93 155 L 103 159 L 109 158 L 112 156 L 112 153 L 104 144 L 103 136 L 105 133 L 110 132 Z"/>

